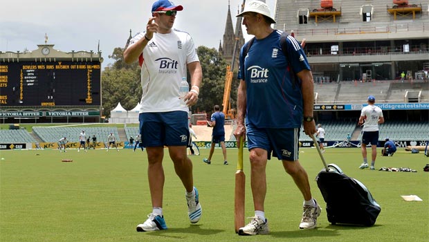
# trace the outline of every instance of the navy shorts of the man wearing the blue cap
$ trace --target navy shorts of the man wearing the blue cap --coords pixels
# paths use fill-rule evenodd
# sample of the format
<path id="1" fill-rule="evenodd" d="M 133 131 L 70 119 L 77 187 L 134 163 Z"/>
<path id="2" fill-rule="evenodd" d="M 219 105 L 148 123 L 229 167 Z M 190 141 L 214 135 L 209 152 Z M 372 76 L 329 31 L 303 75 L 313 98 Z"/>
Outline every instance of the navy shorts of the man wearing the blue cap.
<path id="1" fill-rule="evenodd" d="M 186 146 L 190 139 L 188 113 L 140 113 L 140 134 L 143 147 Z"/>

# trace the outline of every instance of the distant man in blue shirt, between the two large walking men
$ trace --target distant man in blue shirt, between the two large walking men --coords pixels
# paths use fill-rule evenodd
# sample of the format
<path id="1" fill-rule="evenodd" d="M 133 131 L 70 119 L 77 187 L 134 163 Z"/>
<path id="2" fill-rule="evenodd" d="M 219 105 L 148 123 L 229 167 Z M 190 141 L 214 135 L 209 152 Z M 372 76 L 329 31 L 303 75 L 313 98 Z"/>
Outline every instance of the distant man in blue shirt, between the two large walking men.
<path id="1" fill-rule="evenodd" d="M 228 165 L 226 161 L 226 147 L 225 147 L 225 114 L 221 112 L 219 105 L 215 105 L 215 113 L 212 114 L 210 121 L 207 121 L 208 127 L 213 127 L 212 131 L 212 144 L 210 146 L 210 154 L 208 158 L 203 158 L 203 162 L 208 165 L 211 164 L 213 152 L 215 151 L 215 144 L 221 144 L 223 153 L 223 165 Z"/>

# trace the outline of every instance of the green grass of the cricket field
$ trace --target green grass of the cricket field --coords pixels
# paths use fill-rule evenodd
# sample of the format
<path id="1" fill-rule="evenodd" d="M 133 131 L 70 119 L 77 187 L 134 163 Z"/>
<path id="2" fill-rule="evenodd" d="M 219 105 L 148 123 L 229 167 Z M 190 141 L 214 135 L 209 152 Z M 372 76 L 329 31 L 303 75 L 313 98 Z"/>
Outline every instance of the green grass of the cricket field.
<path id="1" fill-rule="evenodd" d="M 166 150 L 167 151 L 167 150 Z M 250 165 L 244 152 L 246 216 L 253 216 Z M 315 230 L 299 230 L 302 196 L 281 162 L 267 166 L 266 217 L 270 234 L 237 236 L 234 232 L 234 182 L 237 149 L 228 149 L 230 165 L 215 150 L 212 165 L 190 156 L 194 183 L 203 208 L 201 221 L 191 225 L 185 191 L 165 153 L 164 216 L 168 230 L 136 232 L 152 212 L 147 185 L 146 153 L 90 150 L 1 151 L 0 241 L 429 241 L 429 159 L 400 149 L 377 157 L 376 168 L 410 167 L 417 173 L 360 170 L 360 149 L 327 149 L 327 162 L 363 182 L 382 211 L 373 227 L 331 225 L 316 175 L 322 162 L 316 149 L 301 149 L 300 162 L 309 174 L 313 196 L 322 206 Z M 73 159 L 73 162 L 62 162 Z M 414 194 L 422 202 L 405 202 Z M 351 208 L 352 209 L 352 208 Z M 246 223 L 248 221 L 246 220 Z"/>

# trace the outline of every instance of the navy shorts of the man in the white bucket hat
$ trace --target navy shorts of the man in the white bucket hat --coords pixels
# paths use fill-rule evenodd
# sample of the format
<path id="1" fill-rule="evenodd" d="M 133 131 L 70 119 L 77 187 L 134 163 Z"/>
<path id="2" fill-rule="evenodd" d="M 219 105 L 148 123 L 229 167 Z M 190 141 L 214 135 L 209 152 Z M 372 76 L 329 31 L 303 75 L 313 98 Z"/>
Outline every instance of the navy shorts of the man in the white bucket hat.
<path id="1" fill-rule="evenodd" d="M 258 129 L 246 124 L 248 149 L 261 148 L 268 152 L 268 160 L 273 156 L 279 160 L 298 160 L 300 128 Z"/>

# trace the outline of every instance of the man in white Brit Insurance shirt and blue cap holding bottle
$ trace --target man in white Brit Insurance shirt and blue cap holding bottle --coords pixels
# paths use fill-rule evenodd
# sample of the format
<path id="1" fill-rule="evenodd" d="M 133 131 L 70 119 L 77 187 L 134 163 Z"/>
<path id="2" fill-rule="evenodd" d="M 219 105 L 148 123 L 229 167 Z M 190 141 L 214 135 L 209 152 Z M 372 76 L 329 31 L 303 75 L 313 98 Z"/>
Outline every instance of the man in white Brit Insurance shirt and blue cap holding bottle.
<path id="1" fill-rule="evenodd" d="M 137 225 L 138 232 L 167 229 L 163 214 L 164 146 L 168 147 L 176 175 L 185 187 L 190 223 L 197 223 L 202 214 L 186 146 L 190 138 L 189 106 L 198 101 L 203 74 L 192 37 L 173 28 L 181 10 L 183 6 L 172 1 L 155 1 L 146 30 L 134 36 L 124 51 L 125 63 L 138 60 L 141 66 L 143 95 L 138 120 L 149 162 L 147 176 L 152 198 L 152 212 L 144 223 Z M 191 89 L 183 95 L 179 86 L 187 80 L 187 68 Z"/>

